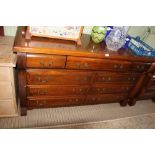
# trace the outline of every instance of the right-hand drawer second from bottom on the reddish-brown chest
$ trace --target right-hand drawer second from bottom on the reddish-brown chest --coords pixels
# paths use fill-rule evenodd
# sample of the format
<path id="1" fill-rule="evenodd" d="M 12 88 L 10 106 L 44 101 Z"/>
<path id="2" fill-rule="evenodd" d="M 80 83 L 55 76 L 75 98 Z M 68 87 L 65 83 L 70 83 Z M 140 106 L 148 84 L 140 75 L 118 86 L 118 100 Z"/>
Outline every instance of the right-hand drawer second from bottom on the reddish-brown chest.
<path id="1" fill-rule="evenodd" d="M 92 94 L 129 93 L 133 85 L 123 84 L 95 84 L 91 88 Z"/>

